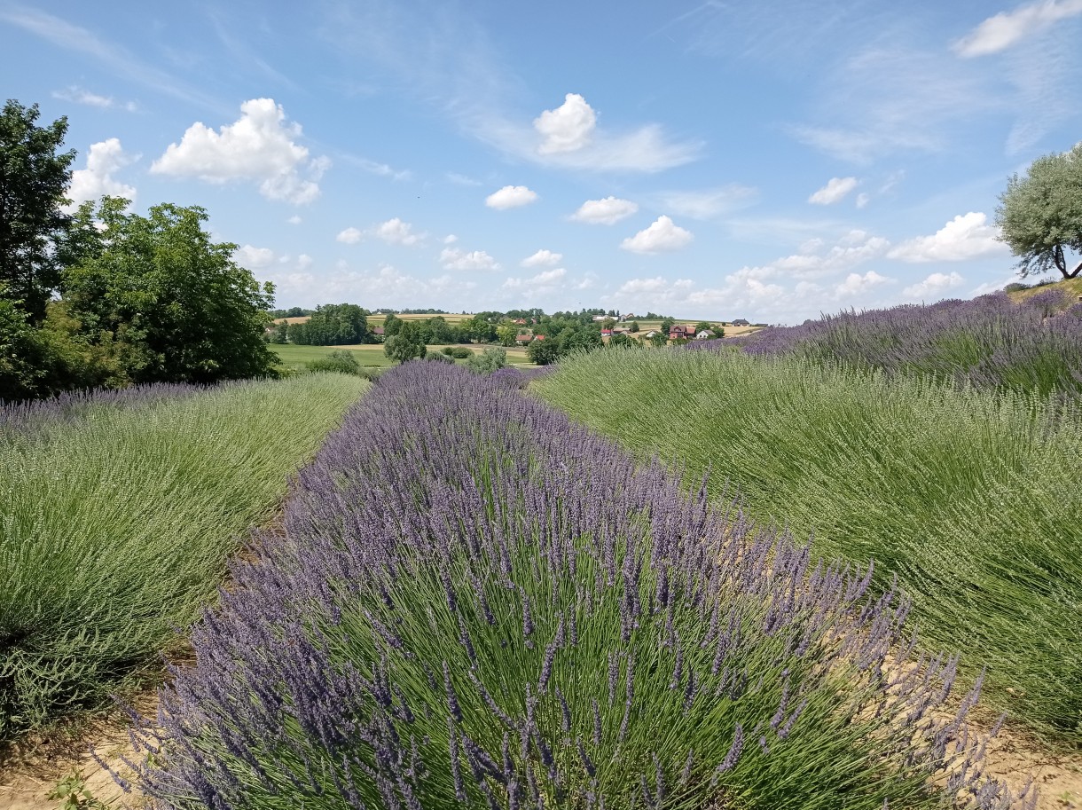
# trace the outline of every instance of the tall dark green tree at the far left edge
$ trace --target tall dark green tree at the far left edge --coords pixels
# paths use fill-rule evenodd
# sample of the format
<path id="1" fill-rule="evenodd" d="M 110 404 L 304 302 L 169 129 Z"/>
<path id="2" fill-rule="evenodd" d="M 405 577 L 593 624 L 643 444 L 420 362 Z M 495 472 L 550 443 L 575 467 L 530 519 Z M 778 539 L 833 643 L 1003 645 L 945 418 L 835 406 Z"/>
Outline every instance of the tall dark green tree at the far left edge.
<path id="1" fill-rule="evenodd" d="M 52 246 L 68 224 L 61 206 L 75 160 L 75 149 L 58 152 L 67 118 L 39 127 L 39 115 L 14 100 L 0 113 L 0 286 L 35 324 L 58 280 Z"/>

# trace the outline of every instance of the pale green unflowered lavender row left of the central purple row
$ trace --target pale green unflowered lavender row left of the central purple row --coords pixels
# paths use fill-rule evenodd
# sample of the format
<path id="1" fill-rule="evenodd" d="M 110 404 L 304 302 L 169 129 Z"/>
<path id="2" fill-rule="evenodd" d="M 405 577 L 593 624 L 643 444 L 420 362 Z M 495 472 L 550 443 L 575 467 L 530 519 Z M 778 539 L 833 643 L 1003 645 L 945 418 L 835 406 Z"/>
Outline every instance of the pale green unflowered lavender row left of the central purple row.
<path id="1" fill-rule="evenodd" d="M 367 387 L 304 375 L 0 421 L 0 741 L 153 663 Z"/>

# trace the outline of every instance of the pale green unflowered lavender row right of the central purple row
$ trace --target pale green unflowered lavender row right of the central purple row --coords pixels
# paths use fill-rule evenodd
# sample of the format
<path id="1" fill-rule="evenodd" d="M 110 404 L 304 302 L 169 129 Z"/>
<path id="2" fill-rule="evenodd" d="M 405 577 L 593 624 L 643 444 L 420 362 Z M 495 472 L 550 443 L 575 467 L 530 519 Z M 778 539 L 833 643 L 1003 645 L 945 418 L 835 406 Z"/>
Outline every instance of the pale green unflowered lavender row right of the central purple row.
<path id="1" fill-rule="evenodd" d="M 532 389 L 827 558 L 874 559 L 924 639 L 989 668 L 988 703 L 1082 744 L 1077 405 L 736 352 L 580 355 Z"/>

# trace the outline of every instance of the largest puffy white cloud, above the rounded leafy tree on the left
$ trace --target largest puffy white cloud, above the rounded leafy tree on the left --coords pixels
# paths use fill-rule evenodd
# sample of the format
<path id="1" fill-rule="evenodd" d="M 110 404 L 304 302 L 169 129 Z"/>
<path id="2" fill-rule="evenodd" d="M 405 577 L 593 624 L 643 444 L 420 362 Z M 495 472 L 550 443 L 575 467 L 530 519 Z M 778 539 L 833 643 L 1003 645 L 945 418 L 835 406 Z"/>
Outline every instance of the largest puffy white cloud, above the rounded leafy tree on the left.
<path id="1" fill-rule="evenodd" d="M 209 183 L 251 180 L 268 199 L 294 205 L 319 196 L 318 181 L 330 166 L 326 157 L 311 158 L 295 141 L 301 126 L 286 122 L 286 113 L 273 99 L 252 99 L 240 105 L 241 116 L 219 132 L 197 121 L 181 142 L 170 144 L 150 171 L 195 177 Z"/>

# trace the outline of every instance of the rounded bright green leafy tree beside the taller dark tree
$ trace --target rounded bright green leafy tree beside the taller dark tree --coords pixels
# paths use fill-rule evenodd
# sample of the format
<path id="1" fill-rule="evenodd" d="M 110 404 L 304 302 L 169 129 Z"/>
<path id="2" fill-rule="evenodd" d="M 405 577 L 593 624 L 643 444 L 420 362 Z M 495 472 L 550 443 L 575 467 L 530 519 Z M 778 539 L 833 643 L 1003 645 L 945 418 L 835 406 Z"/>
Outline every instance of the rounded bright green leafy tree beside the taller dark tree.
<path id="1" fill-rule="evenodd" d="M 273 374 L 263 341 L 274 287 L 214 243 L 203 209 L 163 204 L 146 217 L 104 197 L 75 217 L 62 252 L 67 313 L 108 349 L 130 382 L 215 382 Z"/>

